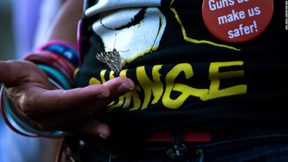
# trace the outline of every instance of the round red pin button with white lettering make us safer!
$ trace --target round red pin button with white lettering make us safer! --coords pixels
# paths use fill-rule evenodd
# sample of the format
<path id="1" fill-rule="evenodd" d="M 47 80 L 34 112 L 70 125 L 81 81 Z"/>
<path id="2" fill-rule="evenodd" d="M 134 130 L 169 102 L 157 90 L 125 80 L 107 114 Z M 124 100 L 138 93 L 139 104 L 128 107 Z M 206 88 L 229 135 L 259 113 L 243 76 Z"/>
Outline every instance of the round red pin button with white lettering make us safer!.
<path id="1" fill-rule="evenodd" d="M 260 35 L 272 19 L 273 0 L 204 0 L 202 16 L 218 39 L 241 43 Z"/>

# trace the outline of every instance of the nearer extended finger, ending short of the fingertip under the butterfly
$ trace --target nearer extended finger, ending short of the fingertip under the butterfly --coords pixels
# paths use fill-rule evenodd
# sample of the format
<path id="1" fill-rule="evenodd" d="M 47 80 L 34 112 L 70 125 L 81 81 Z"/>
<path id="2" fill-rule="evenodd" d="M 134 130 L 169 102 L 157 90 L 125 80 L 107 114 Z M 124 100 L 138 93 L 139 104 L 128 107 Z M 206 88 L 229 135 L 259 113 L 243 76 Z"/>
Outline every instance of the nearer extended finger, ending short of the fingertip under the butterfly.
<path id="1" fill-rule="evenodd" d="M 52 91 L 41 88 L 30 88 L 24 95 L 30 97 L 24 99 L 25 103 L 21 108 L 30 117 L 68 113 L 73 110 L 86 108 L 98 99 L 109 96 L 109 94 L 109 89 L 103 85 L 90 85 L 84 88 Z"/>

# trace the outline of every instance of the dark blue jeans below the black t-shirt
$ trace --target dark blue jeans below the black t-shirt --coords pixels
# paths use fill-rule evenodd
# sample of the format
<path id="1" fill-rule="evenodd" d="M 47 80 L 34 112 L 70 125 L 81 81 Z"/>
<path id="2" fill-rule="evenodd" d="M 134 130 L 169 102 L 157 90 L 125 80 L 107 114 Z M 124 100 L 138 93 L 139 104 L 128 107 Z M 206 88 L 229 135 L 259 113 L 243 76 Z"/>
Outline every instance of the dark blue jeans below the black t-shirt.
<path id="1" fill-rule="evenodd" d="M 211 142 L 182 143 L 181 139 L 176 139 L 176 142 L 124 142 L 109 147 L 102 139 L 96 140 L 98 142 L 80 140 L 79 159 L 101 162 L 288 161 L 288 130 L 247 129 L 213 135 Z M 185 149 L 182 149 L 182 144 Z M 173 159 L 171 155 L 175 155 L 175 145 L 179 148 L 180 156 Z"/>

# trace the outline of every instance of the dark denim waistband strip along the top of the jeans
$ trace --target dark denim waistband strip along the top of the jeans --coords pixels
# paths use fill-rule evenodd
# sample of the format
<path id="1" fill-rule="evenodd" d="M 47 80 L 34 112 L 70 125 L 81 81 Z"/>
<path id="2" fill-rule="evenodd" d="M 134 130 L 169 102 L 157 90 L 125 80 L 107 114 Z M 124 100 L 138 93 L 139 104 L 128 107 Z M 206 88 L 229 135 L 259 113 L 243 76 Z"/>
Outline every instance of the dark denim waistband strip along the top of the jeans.
<path id="1" fill-rule="evenodd" d="M 185 142 L 189 147 L 215 146 L 235 141 L 245 141 L 270 137 L 288 136 L 288 129 L 285 127 L 257 127 L 257 128 L 234 128 L 229 130 L 212 131 L 212 140 L 210 142 Z M 86 145 L 101 150 L 121 150 L 155 148 L 162 150 L 173 147 L 173 142 L 142 142 L 141 140 L 129 139 L 102 139 L 96 136 L 75 135 L 70 137 L 74 141 L 81 141 Z M 172 136 L 171 136 L 172 138 Z"/>

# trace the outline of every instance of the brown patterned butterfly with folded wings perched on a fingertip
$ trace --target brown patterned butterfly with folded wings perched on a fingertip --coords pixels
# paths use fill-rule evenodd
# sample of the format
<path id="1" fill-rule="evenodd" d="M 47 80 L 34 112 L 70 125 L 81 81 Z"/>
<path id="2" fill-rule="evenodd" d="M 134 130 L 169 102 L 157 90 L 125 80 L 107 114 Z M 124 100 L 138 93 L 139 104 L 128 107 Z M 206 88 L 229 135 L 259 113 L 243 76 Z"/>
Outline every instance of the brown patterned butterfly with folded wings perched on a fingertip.
<path id="1" fill-rule="evenodd" d="M 116 41 L 116 33 L 115 33 L 115 41 Z M 123 60 L 125 60 L 125 59 L 123 57 L 121 57 L 119 54 L 119 52 L 123 52 L 123 51 L 117 51 L 115 49 L 115 41 L 114 41 L 114 47 L 113 47 L 113 49 L 111 49 L 112 51 L 97 52 L 95 54 L 95 57 L 97 60 L 104 62 L 106 65 L 108 65 L 108 67 L 111 70 L 113 70 L 116 74 L 119 74 L 120 70 L 122 69 L 121 59 L 123 59 Z M 110 49 L 110 48 L 108 48 L 108 49 Z M 124 51 L 124 52 L 127 52 L 127 51 Z"/>

